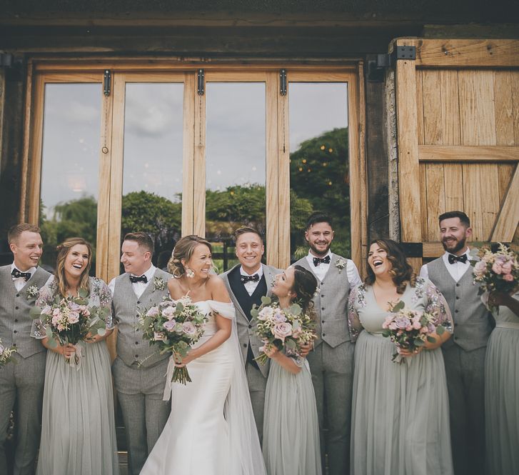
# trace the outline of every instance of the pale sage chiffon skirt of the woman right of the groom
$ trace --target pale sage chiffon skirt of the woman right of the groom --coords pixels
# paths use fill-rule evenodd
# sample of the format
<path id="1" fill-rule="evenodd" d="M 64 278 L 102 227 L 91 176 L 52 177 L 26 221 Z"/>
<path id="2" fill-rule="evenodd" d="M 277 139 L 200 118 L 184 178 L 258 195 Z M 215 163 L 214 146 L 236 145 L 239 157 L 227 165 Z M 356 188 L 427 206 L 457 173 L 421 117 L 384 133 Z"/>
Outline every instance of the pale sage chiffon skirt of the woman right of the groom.
<path id="1" fill-rule="evenodd" d="M 321 475 L 316 396 L 308 361 L 298 374 L 271 361 L 263 417 L 267 474 Z"/>

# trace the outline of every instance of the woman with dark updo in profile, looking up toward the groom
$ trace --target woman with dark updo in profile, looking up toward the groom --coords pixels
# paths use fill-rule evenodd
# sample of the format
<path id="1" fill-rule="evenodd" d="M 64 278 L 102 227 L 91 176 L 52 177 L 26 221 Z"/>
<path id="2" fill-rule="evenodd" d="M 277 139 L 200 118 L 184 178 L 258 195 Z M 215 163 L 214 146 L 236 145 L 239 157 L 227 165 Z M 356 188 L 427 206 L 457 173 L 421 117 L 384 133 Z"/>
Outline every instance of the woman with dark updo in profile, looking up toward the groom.
<path id="1" fill-rule="evenodd" d="M 317 280 L 301 266 L 278 274 L 272 293 L 286 309 L 298 303 L 313 311 Z M 314 315 L 315 316 L 315 315 Z M 268 475 L 321 475 L 321 449 L 316 396 L 308 361 L 296 353 L 266 347 L 271 358 L 265 394 L 263 457 Z"/>

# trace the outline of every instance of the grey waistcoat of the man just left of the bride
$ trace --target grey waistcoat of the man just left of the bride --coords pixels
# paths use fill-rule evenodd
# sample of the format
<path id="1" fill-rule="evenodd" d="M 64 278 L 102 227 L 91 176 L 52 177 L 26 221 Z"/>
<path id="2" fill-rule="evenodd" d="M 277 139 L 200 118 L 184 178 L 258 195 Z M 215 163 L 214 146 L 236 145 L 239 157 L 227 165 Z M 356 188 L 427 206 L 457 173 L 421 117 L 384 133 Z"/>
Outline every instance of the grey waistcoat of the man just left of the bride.
<path id="1" fill-rule="evenodd" d="M 155 289 L 153 279 L 156 277 L 163 280 L 163 290 Z M 142 368 L 147 368 L 161 359 L 168 358 L 169 354 L 159 354 L 157 346 L 150 346 L 149 341 L 143 339 L 142 331 L 138 329 L 138 314 L 159 304 L 163 297 L 168 295 L 169 279 L 171 274 L 156 269 L 143 294 L 137 299 L 130 275 L 122 274 L 116 278 L 112 307 L 118 323 L 117 356 L 124 361 L 124 364 L 131 366 L 138 363 Z"/>

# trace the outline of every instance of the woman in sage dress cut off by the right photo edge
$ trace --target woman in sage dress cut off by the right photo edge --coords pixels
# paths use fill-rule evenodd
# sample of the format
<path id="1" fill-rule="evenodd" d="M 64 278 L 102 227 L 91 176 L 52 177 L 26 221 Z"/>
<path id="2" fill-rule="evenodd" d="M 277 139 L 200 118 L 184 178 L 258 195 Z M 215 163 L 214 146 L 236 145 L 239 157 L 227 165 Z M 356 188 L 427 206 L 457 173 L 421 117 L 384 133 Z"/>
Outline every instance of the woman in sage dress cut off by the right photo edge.
<path id="1" fill-rule="evenodd" d="M 486 297 L 489 307 L 499 308 L 493 311 L 495 329 L 485 358 L 488 474 L 514 475 L 519 474 L 519 289 Z"/>

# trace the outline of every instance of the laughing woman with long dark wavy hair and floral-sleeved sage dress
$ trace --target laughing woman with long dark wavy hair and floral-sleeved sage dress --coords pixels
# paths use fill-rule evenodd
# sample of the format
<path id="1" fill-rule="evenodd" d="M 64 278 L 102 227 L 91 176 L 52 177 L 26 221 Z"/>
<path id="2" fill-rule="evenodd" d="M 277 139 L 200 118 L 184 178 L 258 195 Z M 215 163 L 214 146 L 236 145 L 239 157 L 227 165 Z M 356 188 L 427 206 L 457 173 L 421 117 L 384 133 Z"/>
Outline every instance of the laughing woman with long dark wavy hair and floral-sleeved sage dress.
<path id="1" fill-rule="evenodd" d="M 400 351 L 382 336 L 390 306 L 430 311 L 448 331 L 434 334 L 420 351 Z M 440 345 L 450 337 L 445 299 L 428 280 L 416 277 L 400 246 L 371 243 L 368 277 L 351 292 L 348 322 L 357 340 L 351 426 L 353 475 L 453 475 L 445 367 Z"/>

